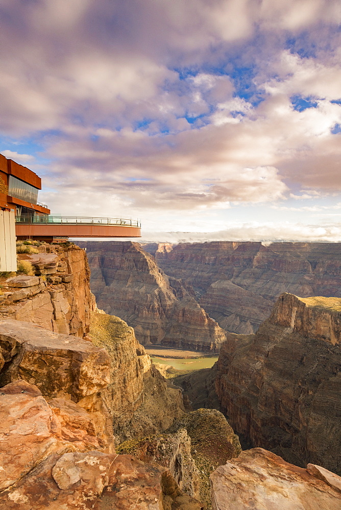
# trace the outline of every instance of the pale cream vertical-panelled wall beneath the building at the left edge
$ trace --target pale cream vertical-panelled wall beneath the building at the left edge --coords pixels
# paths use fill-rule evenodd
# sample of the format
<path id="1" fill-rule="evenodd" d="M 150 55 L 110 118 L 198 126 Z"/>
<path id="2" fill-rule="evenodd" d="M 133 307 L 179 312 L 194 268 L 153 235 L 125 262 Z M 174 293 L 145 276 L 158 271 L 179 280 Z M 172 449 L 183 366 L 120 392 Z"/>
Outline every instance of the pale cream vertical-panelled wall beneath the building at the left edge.
<path id="1" fill-rule="evenodd" d="M 0 211 L 0 271 L 16 271 L 15 213 Z"/>

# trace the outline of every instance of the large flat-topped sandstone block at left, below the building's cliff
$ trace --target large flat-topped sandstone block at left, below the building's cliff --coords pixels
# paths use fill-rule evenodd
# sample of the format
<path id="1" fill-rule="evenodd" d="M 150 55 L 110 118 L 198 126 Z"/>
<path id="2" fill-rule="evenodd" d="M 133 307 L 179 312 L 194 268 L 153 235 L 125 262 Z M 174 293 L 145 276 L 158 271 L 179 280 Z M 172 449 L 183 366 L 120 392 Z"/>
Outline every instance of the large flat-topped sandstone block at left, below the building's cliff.
<path id="1" fill-rule="evenodd" d="M 8 364 L 0 376 L 3 384 L 26 379 L 44 396 L 78 401 L 110 382 L 107 352 L 81 338 L 4 320 L 0 321 L 0 346 Z"/>

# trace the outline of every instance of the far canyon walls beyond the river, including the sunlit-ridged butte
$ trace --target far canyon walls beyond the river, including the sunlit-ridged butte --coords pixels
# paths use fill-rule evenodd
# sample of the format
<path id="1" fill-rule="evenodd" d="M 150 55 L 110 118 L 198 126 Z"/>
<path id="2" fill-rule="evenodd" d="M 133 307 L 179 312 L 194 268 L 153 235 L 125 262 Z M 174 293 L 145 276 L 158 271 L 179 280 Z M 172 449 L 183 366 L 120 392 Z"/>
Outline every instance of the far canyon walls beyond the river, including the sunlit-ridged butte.
<path id="1" fill-rule="evenodd" d="M 340 243 L 80 245 L 99 307 L 133 326 L 143 345 L 218 351 L 223 329 L 255 333 L 282 292 L 341 296 Z M 197 323 L 205 327 L 195 331 Z"/>

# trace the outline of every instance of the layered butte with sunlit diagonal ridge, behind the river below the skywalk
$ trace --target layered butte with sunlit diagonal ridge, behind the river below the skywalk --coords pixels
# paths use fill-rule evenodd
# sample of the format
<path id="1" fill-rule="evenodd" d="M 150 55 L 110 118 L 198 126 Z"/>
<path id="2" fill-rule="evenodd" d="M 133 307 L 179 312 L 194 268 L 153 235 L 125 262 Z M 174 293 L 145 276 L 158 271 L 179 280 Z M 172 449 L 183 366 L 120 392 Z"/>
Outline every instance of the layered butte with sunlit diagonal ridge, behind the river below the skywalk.
<path id="1" fill-rule="evenodd" d="M 83 242 L 99 308 L 134 327 L 143 345 L 216 352 L 225 331 L 177 278 L 171 280 L 138 243 Z"/>

